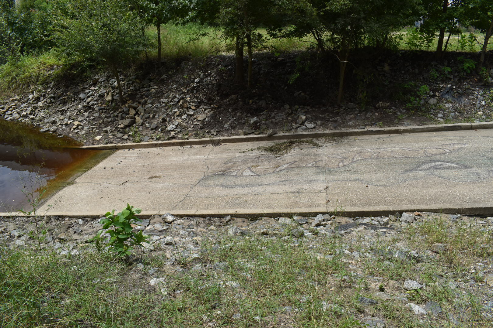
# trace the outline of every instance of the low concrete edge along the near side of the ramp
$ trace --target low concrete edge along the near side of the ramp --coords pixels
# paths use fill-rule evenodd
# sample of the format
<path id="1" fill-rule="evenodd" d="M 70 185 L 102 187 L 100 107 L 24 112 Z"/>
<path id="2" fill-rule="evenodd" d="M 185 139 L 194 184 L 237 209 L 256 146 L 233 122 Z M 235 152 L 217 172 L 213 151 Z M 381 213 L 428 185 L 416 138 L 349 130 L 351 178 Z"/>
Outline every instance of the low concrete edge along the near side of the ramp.
<path id="1" fill-rule="evenodd" d="M 493 203 L 485 204 L 434 204 L 424 206 L 376 206 L 376 207 L 353 207 L 344 208 L 341 210 L 329 210 L 326 208 L 299 208 L 299 209 L 223 209 L 223 210 L 182 210 L 182 211 L 142 211 L 138 216 L 141 218 L 149 218 L 152 215 L 161 215 L 164 213 L 172 213 L 177 217 L 184 216 L 199 216 L 199 217 L 224 217 L 232 215 L 234 217 L 256 218 L 260 216 L 277 217 L 277 216 L 314 216 L 320 213 L 329 213 L 331 215 L 340 215 L 347 217 L 355 216 L 385 216 L 395 214 L 396 212 L 432 212 L 445 214 L 462 214 L 462 215 L 479 215 L 493 216 Z M 50 215 L 59 217 L 77 217 L 77 218 L 99 218 L 102 217 L 104 211 L 87 211 L 87 212 L 56 212 L 49 211 L 39 216 Z M 32 217 L 23 213 L 1 213 L 2 217 Z"/>

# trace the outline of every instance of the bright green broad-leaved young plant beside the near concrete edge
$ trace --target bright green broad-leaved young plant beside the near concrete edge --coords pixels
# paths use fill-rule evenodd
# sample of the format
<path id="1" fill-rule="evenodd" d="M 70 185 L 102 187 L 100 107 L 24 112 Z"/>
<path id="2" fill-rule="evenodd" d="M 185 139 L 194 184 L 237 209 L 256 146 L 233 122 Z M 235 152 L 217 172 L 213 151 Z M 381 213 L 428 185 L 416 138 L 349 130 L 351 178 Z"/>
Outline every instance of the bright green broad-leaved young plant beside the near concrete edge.
<path id="1" fill-rule="evenodd" d="M 93 241 L 99 250 L 107 247 L 119 257 L 131 255 L 133 246 L 142 246 L 142 242 L 149 238 L 149 236 L 142 235 L 142 231 L 136 233 L 132 228 L 132 224 L 142 222 L 140 218 L 135 216 L 141 211 L 141 209 L 134 209 L 133 206 L 127 204 L 127 207 L 116 215 L 114 209 L 111 212 L 106 212 L 106 217 L 100 220 L 100 223 L 103 224 L 103 230 L 98 231 L 96 236 L 89 241 Z M 112 229 L 108 229 L 110 227 Z M 103 246 L 104 239 L 101 235 L 106 233 L 109 234 L 110 239 L 106 246 Z"/>

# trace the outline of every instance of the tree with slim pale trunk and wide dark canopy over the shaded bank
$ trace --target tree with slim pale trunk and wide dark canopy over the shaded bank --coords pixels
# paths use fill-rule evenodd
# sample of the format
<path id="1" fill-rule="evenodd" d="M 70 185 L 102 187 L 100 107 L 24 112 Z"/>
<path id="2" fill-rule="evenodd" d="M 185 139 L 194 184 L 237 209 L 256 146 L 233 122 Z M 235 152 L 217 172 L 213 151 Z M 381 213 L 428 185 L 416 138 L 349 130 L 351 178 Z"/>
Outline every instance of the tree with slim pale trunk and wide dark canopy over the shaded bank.
<path id="1" fill-rule="evenodd" d="M 421 0 L 401 0 L 398 5 L 395 0 L 292 0 L 285 6 L 291 24 L 285 22 L 287 29 L 280 34 L 312 35 L 321 52 L 337 57 L 337 102 L 341 103 L 351 51 L 368 45 L 369 40 L 385 45 L 391 32 L 416 21 L 421 13 L 420 3 Z"/>

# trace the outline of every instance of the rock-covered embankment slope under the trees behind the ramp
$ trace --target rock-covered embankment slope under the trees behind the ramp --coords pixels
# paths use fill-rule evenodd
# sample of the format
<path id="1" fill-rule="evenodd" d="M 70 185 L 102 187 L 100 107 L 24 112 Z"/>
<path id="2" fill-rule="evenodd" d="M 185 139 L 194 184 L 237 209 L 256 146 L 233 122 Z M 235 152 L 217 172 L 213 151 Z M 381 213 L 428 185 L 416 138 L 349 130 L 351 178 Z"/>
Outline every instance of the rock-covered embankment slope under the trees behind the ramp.
<path id="1" fill-rule="evenodd" d="M 334 76 L 287 83 L 297 65 L 296 54 L 258 55 L 252 90 L 231 84 L 232 56 L 184 61 L 168 73 L 122 72 L 124 105 L 116 80 L 106 73 L 0 101 L 0 118 L 86 144 L 493 119 L 490 87 L 464 77 L 460 66 L 441 73 L 444 66 L 437 63 L 420 68 L 402 57 L 377 60 L 377 82 L 387 92 L 362 101 L 368 95 L 362 98 L 361 90 L 349 86 L 348 102 L 337 106 L 319 86 Z"/>

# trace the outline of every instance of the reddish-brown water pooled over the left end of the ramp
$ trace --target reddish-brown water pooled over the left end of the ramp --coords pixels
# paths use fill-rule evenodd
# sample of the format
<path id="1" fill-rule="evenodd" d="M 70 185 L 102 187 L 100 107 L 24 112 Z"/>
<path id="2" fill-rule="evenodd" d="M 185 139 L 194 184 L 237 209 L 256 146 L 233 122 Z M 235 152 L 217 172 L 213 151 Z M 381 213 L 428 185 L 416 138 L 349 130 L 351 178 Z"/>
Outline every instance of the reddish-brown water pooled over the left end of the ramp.
<path id="1" fill-rule="evenodd" d="M 45 198 L 107 154 L 76 146 L 71 138 L 0 120 L 0 212 L 32 210 L 33 200 Z"/>

